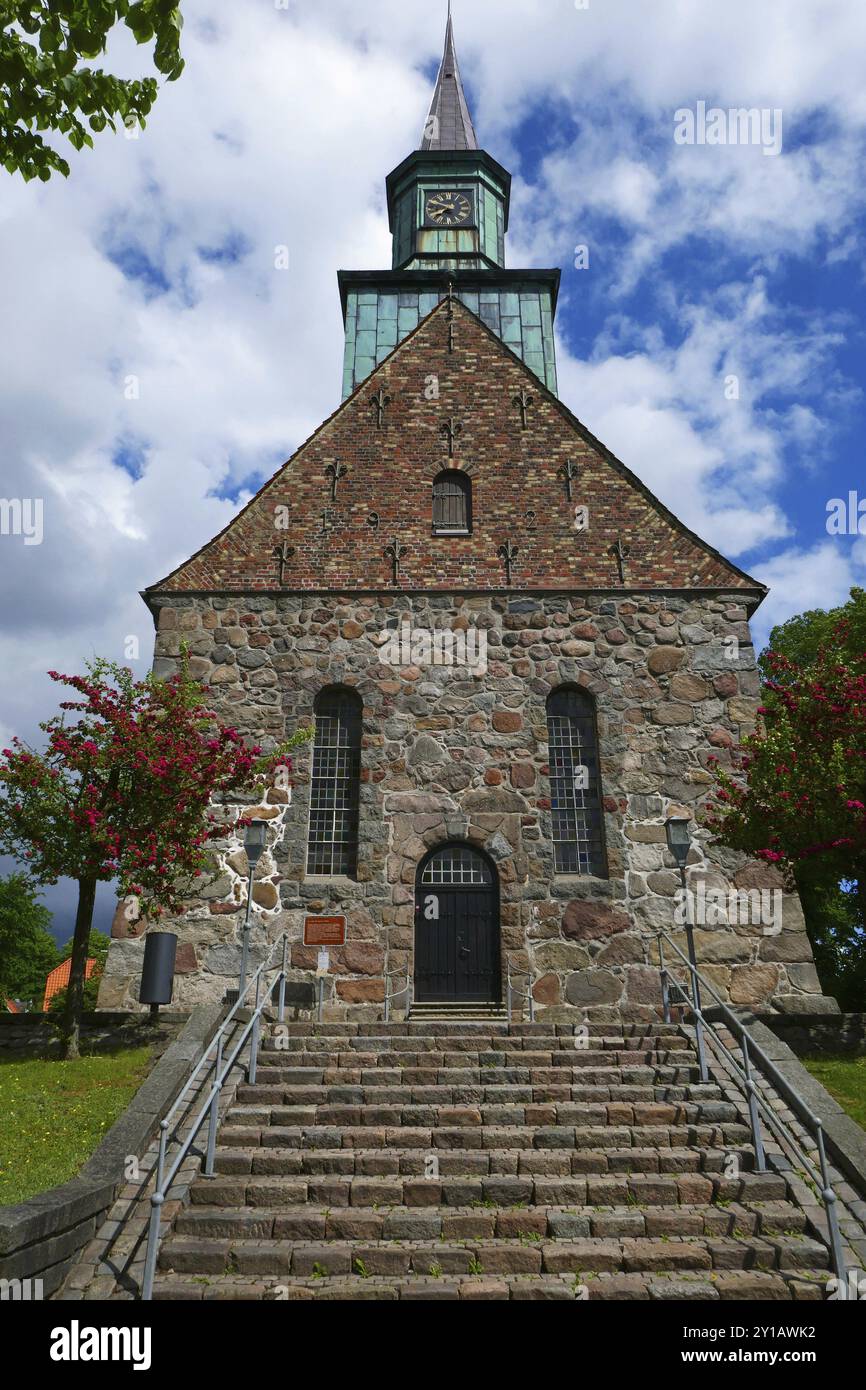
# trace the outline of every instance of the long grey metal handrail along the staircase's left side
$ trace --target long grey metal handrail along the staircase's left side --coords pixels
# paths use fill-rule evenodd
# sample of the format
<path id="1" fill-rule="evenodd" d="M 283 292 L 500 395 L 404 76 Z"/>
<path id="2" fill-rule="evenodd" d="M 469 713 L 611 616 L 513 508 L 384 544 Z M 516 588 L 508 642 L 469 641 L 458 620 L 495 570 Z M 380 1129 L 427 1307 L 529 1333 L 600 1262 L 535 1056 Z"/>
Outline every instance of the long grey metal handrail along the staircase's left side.
<path id="1" fill-rule="evenodd" d="M 247 1074 L 249 1084 L 250 1086 L 256 1084 L 256 1068 L 257 1068 L 257 1062 L 259 1062 L 259 1034 L 260 1034 L 260 1026 L 261 1026 L 261 1015 L 268 1008 L 268 1005 L 271 1002 L 271 998 L 272 998 L 272 987 L 271 987 L 271 990 L 265 990 L 265 992 L 263 994 L 261 992 L 261 981 L 263 981 L 263 976 L 264 976 L 265 970 L 272 969 L 274 956 L 275 956 L 275 954 L 277 954 L 277 951 L 279 948 L 282 949 L 282 963 L 281 963 L 279 976 L 278 976 L 278 980 L 279 980 L 279 1002 L 278 1002 L 277 1016 L 278 1016 L 279 1022 L 282 1023 L 282 1020 L 285 1017 L 285 984 L 286 984 L 288 952 L 289 952 L 289 938 L 288 938 L 286 933 L 284 933 L 279 937 L 279 940 L 274 942 L 274 945 L 271 947 L 271 951 L 270 951 L 267 959 L 261 962 L 261 965 L 256 970 L 256 974 L 246 983 L 243 991 L 238 995 L 236 1004 L 232 1005 L 232 1008 L 227 1013 L 225 1019 L 222 1020 L 222 1023 L 220 1024 L 220 1027 L 214 1033 L 213 1038 L 207 1044 L 204 1052 L 199 1058 L 199 1062 L 196 1063 L 196 1066 L 190 1072 L 189 1077 L 186 1079 L 186 1084 L 183 1086 L 183 1088 L 182 1088 L 181 1094 L 178 1095 L 178 1098 L 175 1099 L 174 1105 L 165 1113 L 165 1116 L 160 1120 L 160 1151 L 158 1151 L 157 1165 L 156 1165 L 156 1184 L 154 1184 L 154 1188 L 153 1188 L 153 1194 L 150 1197 L 150 1223 L 149 1223 L 149 1227 L 147 1227 L 147 1252 L 146 1252 L 146 1257 L 145 1257 L 145 1276 L 143 1276 L 143 1280 L 142 1280 L 142 1301 L 143 1302 L 149 1302 L 153 1298 L 153 1280 L 154 1280 L 154 1275 L 156 1275 L 156 1262 L 157 1262 L 157 1257 L 158 1257 L 158 1252 L 160 1252 L 160 1215 L 161 1215 L 163 1202 L 165 1201 L 165 1194 L 170 1191 L 171 1184 L 174 1183 L 178 1172 L 181 1169 L 181 1165 L 183 1163 L 183 1161 L 186 1159 L 186 1155 L 189 1154 L 192 1145 L 195 1144 L 195 1141 L 197 1138 L 197 1134 L 199 1134 L 199 1130 L 202 1129 L 206 1118 L 209 1120 L 209 1127 L 207 1127 L 207 1152 L 206 1152 L 206 1158 L 204 1158 L 204 1173 L 206 1173 L 207 1177 L 213 1177 L 213 1172 L 214 1172 L 214 1151 L 215 1151 L 215 1145 L 217 1145 L 217 1123 L 218 1123 L 218 1118 L 220 1118 L 220 1097 L 222 1094 L 222 1087 L 225 1086 L 225 1081 L 228 1080 L 228 1077 L 229 1077 L 231 1072 L 234 1070 L 234 1068 L 238 1065 L 238 1058 L 240 1056 L 240 1054 L 242 1054 L 242 1051 L 243 1051 L 243 1048 L 246 1045 L 247 1038 L 250 1038 L 250 1059 L 249 1059 L 247 1073 L 246 1074 Z M 225 1045 L 225 1038 L 227 1038 L 228 1030 L 229 1030 L 229 1027 L 234 1029 L 236 1022 L 240 1022 L 240 1020 L 235 1019 L 235 1015 L 243 1006 L 243 1001 L 246 999 L 246 997 L 250 992 L 250 990 L 253 990 L 253 987 L 256 990 L 256 1004 L 254 1004 L 254 1008 L 253 1008 L 253 1013 L 246 1020 L 246 1023 L 243 1026 L 243 1030 L 240 1033 L 240 1037 L 235 1042 L 228 1061 L 225 1061 L 224 1059 L 224 1045 Z M 215 1047 L 215 1054 L 211 1058 L 210 1054 L 211 1054 L 211 1049 L 214 1047 Z M 207 1066 L 206 1066 L 206 1063 L 207 1063 Z M 204 1101 L 204 1104 L 199 1109 L 199 1112 L 197 1112 L 197 1115 L 196 1115 L 196 1118 L 195 1118 L 190 1129 L 186 1133 L 186 1138 L 183 1140 L 183 1143 L 178 1148 L 178 1152 L 177 1152 L 177 1155 L 174 1158 L 174 1162 L 171 1163 L 168 1172 L 165 1172 L 165 1156 L 167 1156 L 168 1141 L 170 1141 L 171 1120 L 174 1119 L 174 1116 L 179 1111 L 182 1102 L 185 1101 L 186 1095 L 189 1094 L 189 1090 L 193 1086 L 193 1083 L 196 1081 L 196 1077 L 199 1076 L 199 1073 L 203 1069 L 207 1073 L 207 1072 L 211 1070 L 211 1068 L 213 1068 L 213 1072 L 214 1072 L 214 1080 L 211 1081 L 210 1090 L 207 1093 L 207 1099 Z M 177 1138 L 178 1137 L 177 1136 L 177 1127 L 178 1126 L 175 1126 L 171 1130 L 171 1138 Z"/>

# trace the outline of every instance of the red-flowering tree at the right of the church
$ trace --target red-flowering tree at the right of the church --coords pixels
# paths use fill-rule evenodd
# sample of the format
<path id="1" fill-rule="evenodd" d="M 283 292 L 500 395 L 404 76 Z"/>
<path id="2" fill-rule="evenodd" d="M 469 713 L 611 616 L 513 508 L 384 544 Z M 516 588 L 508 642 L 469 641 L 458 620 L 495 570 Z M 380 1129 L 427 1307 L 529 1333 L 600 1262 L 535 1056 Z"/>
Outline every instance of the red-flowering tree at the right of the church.
<path id="1" fill-rule="evenodd" d="M 708 824 L 790 880 L 820 862 L 866 909 L 866 652 L 847 639 L 840 624 L 809 664 L 765 652 L 765 727 L 716 767 Z"/>

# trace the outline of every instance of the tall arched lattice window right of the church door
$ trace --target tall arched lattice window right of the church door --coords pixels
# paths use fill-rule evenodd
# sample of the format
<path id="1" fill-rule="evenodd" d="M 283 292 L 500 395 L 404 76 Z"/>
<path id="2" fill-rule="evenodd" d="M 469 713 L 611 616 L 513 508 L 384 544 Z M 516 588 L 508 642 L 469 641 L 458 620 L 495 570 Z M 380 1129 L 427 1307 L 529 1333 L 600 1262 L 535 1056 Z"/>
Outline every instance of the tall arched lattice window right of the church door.
<path id="1" fill-rule="evenodd" d="M 607 877 L 592 696 L 563 685 L 548 698 L 550 817 L 556 873 Z"/>

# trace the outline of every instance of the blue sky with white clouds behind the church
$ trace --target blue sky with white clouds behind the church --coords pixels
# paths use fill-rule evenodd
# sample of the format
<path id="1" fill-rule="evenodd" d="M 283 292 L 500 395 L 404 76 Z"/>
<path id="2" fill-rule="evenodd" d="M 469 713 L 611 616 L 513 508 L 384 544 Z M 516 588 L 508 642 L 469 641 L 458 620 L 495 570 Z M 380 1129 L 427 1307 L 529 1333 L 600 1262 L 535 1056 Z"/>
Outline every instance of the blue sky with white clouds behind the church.
<path id="1" fill-rule="evenodd" d="M 135 637 L 146 669 L 139 591 L 338 403 L 336 270 L 389 264 L 384 181 L 445 29 L 445 4 L 402 0 L 183 13 L 188 67 L 146 131 L 72 154 L 68 181 L 0 186 L 0 491 L 44 499 L 40 546 L 0 537 L 4 746 L 38 738 L 50 667 Z M 509 265 L 563 267 L 562 398 L 771 585 L 759 644 L 844 602 L 866 582 L 866 537 L 826 530 L 831 498 L 866 498 L 866 7 L 457 0 L 455 25 L 481 143 L 514 175 Z M 122 38 L 110 63 L 147 71 Z M 781 153 L 677 145 L 699 101 L 781 111 Z M 49 901 L 68 934 L 70 887 Z"/>

